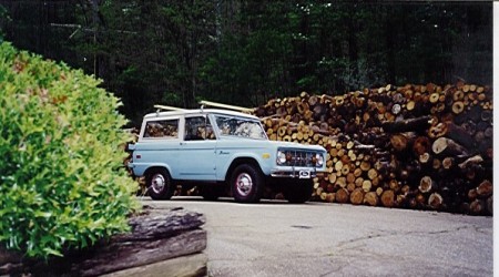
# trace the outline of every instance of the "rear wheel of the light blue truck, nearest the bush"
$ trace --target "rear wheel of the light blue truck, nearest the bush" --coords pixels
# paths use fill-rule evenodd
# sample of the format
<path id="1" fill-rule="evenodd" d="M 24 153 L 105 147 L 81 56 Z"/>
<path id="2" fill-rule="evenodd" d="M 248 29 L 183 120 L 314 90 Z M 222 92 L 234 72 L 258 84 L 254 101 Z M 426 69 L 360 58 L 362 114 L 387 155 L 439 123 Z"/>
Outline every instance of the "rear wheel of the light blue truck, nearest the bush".
<path id="1" fill-rule="evenodd" d="M 172 177 L 165 168 L 152 170 L 146 178 L 147 193 L 155 201 L 166 201 L 173 196 L 175 191 L 172 184 Z"/>

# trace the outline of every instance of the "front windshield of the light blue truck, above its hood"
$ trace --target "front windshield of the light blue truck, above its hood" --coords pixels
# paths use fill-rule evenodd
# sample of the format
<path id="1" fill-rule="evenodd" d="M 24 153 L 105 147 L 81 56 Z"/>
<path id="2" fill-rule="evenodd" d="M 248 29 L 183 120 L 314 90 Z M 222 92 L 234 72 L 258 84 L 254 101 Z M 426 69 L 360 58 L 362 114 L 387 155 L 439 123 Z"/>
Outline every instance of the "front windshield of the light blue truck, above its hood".
<path id="1" fill-rule="evenodd" d="M 230 115 L 215 115 L 221 135 L 266 140 L 267 135 L 259 121 Z"/>

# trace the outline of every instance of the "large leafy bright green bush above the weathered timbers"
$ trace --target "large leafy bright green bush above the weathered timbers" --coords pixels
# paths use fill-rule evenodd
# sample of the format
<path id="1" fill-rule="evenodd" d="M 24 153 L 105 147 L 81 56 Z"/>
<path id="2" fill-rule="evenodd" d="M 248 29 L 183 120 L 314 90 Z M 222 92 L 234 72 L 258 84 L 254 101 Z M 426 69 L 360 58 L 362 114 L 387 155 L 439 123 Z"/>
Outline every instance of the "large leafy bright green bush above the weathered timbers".
<path id="1" fill-rule="evenodd" d="M 136 184 L 119 99 L 65 64 L 0 44 L 0 243 L 62 256 L 128 229 Z"/>

